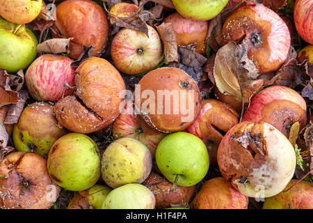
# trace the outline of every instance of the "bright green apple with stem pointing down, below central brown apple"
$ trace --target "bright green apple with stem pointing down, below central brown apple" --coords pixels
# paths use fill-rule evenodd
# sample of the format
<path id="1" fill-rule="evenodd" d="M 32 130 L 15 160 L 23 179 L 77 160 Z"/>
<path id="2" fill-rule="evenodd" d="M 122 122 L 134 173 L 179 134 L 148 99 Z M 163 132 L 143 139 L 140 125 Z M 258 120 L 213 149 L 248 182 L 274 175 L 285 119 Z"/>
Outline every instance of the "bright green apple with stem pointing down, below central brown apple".
<path id="1" fill-rule="evenodd" d="M 201 139 L 187 132 L 175 132 L 164 137 L 155 158 L 163 176 L 183 187 L 199 183 L 209 170 L 207 147 Z"/>

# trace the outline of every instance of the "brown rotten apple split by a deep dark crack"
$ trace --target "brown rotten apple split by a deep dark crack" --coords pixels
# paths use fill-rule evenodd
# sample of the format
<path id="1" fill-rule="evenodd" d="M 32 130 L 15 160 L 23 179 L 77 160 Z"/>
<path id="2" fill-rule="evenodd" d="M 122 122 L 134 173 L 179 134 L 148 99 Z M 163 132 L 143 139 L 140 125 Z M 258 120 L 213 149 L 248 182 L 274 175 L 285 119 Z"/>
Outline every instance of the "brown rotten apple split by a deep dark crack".
<path id="1" fill-rule="evenodd" d="M 54 105 L 56 119 L 73 132 L 102 130 L 120 114 L 124 80 L 109 61 L 99 57 L 86 59 L 76 72 L 76 96 L 62 98 Z"/>

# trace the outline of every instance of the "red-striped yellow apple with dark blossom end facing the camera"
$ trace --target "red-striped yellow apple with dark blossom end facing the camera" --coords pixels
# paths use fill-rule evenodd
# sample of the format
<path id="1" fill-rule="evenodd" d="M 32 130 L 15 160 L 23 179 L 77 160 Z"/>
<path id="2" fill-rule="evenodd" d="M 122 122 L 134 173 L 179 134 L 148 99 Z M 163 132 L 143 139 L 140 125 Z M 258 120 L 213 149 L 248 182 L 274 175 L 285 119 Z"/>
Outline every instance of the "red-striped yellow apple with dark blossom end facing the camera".
<path id="1" fill-rule="evenodd" d="M 149 38 L 141 31 L 124 28 L 112 40 L 113 64 L 127 75 L 151 70 L 161 61 L 162 45 L 159 34 L 152 26 L 147 27 Z"/>

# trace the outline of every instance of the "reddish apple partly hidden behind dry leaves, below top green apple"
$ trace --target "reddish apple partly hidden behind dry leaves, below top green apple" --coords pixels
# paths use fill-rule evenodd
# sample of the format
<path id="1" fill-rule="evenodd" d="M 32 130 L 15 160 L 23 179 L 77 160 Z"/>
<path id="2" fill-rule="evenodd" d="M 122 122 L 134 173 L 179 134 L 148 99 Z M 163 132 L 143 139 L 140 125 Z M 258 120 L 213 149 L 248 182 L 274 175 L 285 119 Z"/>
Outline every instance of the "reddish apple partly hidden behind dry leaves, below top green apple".
<path id="1" fill-rule="evenodd" d="M 195 45 L 195 52 L 204 55 L 207 52 L 207 31 L 209 22 L 191 20 L 179 13 L 168 15 L 163 22 L 171 23 L 177 33 L 177 45 Z"/>

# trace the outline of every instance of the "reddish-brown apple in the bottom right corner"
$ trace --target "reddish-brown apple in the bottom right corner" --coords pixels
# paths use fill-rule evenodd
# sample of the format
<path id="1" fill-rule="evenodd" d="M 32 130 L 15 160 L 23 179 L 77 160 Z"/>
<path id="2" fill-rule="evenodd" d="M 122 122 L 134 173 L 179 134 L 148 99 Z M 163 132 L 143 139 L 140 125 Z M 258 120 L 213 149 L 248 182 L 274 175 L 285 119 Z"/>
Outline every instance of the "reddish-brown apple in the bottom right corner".
<path id="1" fill-rule="evenodd" d="M 298 180 L 290 180 L 284 190 L 294 185 Z M 300 181 L 287 192 L 280 192 L 274 197 L 265 199 L 263 209 L 313 209 L 313 184 Z"/>

